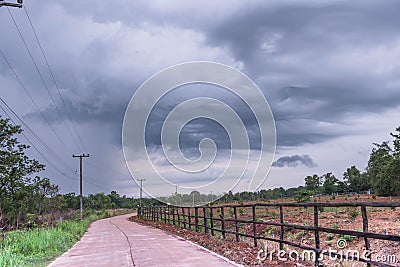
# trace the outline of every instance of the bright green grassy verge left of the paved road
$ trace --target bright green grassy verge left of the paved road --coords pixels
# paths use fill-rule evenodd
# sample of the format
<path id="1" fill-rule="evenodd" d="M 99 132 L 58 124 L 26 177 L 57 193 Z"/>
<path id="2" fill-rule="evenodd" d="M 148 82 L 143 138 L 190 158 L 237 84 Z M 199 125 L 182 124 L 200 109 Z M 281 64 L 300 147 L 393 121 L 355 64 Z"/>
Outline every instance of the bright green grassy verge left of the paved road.
<path id="1" fill-rule="evenodd" d="M 91 222 L 120 214 L 102 212 L 82 221 L 63 221 L 52 228 L 8 232 L 0 236 L 0 266 L 45 266 L 74 245 Z"/>

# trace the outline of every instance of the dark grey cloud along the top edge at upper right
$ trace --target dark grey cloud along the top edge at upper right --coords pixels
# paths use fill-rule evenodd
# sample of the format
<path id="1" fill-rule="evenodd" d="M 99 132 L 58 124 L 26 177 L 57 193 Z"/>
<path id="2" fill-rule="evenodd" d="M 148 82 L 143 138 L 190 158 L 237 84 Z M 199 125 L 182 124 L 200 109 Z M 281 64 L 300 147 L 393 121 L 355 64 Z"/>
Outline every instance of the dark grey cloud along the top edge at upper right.
<path id="1" fill-rule="evenodd" d="M 400 19 L 396 15 L 399 8 L 398 1 L 379 4 L 375 1 L 292 2 L 276 7 L 268 4 L 249 6 L 216 25 L 208 34 L 208 40 L 227 44 L 245 63 L 259 63 L 246 67 L 262 73 L 273 67 L 269 64 L 274 62 L 276 55 L 271 52 L 277 52 L 278 56 L 308 53 L 310 56 L 320 54 L 321 57 L 344 46 L 362 48 L 391 42 L 399 34 L 397 25 Z M 275 43 L 279 45 L 273 47 Z M 267 70 L 266 66 L 269 67 Z M 274 67 L 279 71 L 296 70 L 300 66 L 275 64 Z"/>

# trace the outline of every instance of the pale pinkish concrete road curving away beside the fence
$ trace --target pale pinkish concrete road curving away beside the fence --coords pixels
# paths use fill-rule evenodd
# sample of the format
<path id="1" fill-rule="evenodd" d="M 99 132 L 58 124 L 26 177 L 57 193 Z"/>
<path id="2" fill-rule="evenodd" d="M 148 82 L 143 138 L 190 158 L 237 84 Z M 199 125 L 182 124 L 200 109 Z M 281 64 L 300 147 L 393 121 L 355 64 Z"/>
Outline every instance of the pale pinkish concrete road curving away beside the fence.
<path id="1" fill-rule="evenodd" d="M 92 223 L 83 238 L 49 267 L 235 266 L 193 243 L 128 221 L 130 216 Z"/>

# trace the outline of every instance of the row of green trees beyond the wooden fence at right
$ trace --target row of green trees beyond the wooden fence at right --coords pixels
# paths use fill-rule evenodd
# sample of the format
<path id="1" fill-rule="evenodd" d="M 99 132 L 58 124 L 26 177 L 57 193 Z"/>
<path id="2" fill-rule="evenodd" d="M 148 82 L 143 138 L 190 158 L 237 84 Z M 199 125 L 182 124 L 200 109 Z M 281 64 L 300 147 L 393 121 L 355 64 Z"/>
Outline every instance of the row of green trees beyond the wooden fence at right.
<path id="1" fill-rule="evenodd" d="M 360 171 L 355 166 L 347 168 L 341 179 L 332 172 L 305 177 L 304 185 L 284 189 L 283 187 L 258 192 L 231 191 L 220 201 L 262 201 L 295 197 L 306 201 L 311 196 L 335 194 L 373 193 L 378 196 L 400 196 L 400 127 L 390 133 L 392 140 L 374 143 L 367 167 Z"/>

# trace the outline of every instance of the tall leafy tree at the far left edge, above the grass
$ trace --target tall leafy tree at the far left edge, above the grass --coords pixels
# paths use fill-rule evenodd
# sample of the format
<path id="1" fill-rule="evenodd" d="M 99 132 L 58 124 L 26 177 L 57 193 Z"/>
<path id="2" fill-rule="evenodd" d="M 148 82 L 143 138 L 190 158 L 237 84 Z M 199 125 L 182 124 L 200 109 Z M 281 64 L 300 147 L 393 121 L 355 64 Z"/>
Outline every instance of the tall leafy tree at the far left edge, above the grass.
<path id="1" fill-rule="evenodd" d="M 21 215 L 27 208 L 26 199 L 32 194 L 31 175 L 44 170 L 44 165 L 25 155 L 28 145 L 21 144 L 15 135 L 20 126 L 0 116 L 0 214 L 2 224 L 19 226 Z"/>

